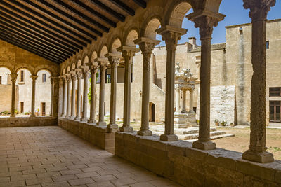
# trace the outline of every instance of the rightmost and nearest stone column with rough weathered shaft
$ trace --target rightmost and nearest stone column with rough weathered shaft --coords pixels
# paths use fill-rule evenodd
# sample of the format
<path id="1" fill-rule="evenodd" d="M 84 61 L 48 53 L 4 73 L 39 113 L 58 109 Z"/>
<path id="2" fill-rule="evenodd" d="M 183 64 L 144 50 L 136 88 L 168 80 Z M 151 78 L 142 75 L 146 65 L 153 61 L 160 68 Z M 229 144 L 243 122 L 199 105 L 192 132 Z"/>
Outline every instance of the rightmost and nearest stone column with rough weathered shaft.
<path id="1" fill-rule="evenodd" d="M 249 150 L 242 158 L 254 162 L 274 162 L 273 154 L 266 151 L 266 18 L 275 0 L 244 0 L 252 23 L 251 35 L 251 134 Z"/>

